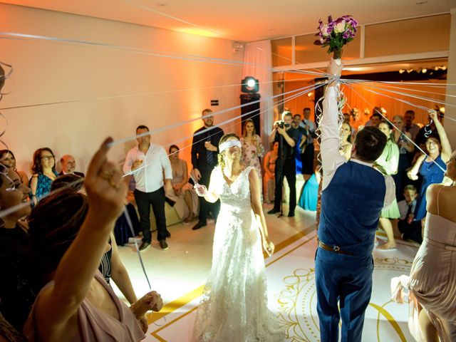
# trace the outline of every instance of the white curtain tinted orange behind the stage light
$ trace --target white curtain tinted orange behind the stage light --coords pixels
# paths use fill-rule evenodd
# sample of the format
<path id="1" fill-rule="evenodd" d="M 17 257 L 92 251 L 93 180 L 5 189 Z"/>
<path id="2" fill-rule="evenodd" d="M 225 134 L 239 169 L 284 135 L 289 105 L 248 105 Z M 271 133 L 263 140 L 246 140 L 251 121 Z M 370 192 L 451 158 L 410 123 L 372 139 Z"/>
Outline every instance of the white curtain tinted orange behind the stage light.
<path id="1" fill-rule="evenodd" d="M 261 138 L 266 150 L 269 150 L 268 136 L 274 118 L 271 68 L 271 41 L 256 41 L 245 45 L 243 77 L 253 76 L 259 81 Z"/>

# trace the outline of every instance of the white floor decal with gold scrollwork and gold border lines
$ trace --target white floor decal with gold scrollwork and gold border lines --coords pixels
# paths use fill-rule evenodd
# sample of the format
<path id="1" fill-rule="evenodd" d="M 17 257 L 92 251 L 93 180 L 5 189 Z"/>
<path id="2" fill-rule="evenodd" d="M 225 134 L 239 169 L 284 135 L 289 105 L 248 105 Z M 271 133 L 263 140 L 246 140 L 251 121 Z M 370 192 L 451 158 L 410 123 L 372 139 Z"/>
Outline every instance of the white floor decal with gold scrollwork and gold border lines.
<path id="1" fill-rule="evenodd" d="M 286 330 L 286 340 L 292 342 L 320 341 L 316 313 L 314 230 L 299 234 L 278 246 L 266 259 L 269 309 Z M 408 332 L 408 304 L 390 301 L 390 279 L 409 274 L 418 248 L 398 242 L 394 252 L 374 251 L 373 293 L 366 310 L 363 342 L 413 342 Z M 195 289 L 172 304 L 167 319 L 155 317 L 145 342 L 190 341 L 196 306 L 202 288 Z M 171 304 L 167 304 L 171 306 Z"/>

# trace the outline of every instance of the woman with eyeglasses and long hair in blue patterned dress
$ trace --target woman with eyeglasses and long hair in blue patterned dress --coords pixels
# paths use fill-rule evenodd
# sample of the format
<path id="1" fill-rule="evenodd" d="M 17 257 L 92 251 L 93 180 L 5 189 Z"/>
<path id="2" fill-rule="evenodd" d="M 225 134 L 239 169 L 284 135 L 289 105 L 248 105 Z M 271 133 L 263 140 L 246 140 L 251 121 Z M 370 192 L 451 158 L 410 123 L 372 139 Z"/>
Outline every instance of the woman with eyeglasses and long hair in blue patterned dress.
<path id="1" fill-rule="evenodd" d="M 41 197 L 51 191 L 53 180 L 58 177 L 56 157 L 49 147 L 38 148 L 33 153 L 33 175 L 30 180 L 31 201 L 36 205 Z"/>

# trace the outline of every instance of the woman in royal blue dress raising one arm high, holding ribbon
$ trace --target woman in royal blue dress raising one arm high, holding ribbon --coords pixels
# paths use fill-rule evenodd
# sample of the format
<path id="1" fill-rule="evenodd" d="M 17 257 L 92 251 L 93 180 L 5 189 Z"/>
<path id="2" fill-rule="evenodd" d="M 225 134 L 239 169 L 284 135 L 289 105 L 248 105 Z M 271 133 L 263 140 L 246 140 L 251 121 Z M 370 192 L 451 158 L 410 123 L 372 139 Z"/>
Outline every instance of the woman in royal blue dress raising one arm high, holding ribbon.
<path id="1" fill-rule="evenodd" d="M 435 123 L 437 135 L 432 133 L 426 140 L 426 149 L 428 155 L 420 155 L 418 160 L 408 172 L 410 180 L 418 179 L 418 172 L 423 176 L 423 185 L 421 185 L 420 195 L 415 207 L 414 220 L 420 221 L 426 217 L 426 190 L 429 185 L 441 183 L 443 174 L 447 170 L 447 161 L 451 157 L 451 145 L 447 133 L 442 123 L 437 118 L 437 112 L 430 110 L 430 119 Z M 424 222 L 423 222 L 424 223 Z M 424 227 L 424 226 L 423 226 Z"/>

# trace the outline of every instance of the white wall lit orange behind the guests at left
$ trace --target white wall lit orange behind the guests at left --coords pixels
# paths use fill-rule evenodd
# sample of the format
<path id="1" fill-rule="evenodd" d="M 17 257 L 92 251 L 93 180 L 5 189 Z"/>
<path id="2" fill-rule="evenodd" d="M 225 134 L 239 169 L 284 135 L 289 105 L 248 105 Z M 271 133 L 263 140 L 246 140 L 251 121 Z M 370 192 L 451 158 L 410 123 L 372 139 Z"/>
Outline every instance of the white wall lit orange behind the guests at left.
<path id="1" fill-rule="evenodd" d="M 8 4 L 0 4 L 0 18 L 0 31 L 3 32 L 242 60 L 242 53 L 233 53 L 232 41 L 223 39 Z M 0 61 L 14 66 L 14 83 L 7 81 L 5 86 L 5 90 L 12 88 L 14 91 L 4 96 L 0 108 L 211 88 L 239 84 L 242 79 L 242 67 L 239 66 L 182 61 L 84 45 L 0 39 L 0 51 Z M 18 169 L 28 174 L 33 151 L 44 146 L 51 147 L 58 158 L 67 153 L 74 155 L 77 169 L 85 170 L 90 156 L 106 136 L 125 138 L 134 135 L 140 124 L 148 125 L 152 130 L 199 118 L 202 109 L 210 107 L 211 99 L 218 99 L 220 103 L 213 110 L 239 105 L 239 87 L 1 110 L 8 120 L 6 133 L 1 139 L 16 154 Z M 222 114 L 215 118 L 215 123 L 239 114 L 239 110 Z M 2 125 L 0 121 L 0 130 Z M 167 147 L 181 137 L 192 135 L 201 125 L 202 121 L 197 120 L 190 125 L 157 133 L 152 135 L 152 142 Z M 239 132 L 239 124 L 222 128 L 226 132 Z M 184 147 L 190 143 L 191 140 L 186 140 L 178 145 Z M 134 144 L 128 142 L 116 147 L 111 157 L 122 160 L 125 150 Z M 190 160 L 190 149 L 182 154 Z"/>

